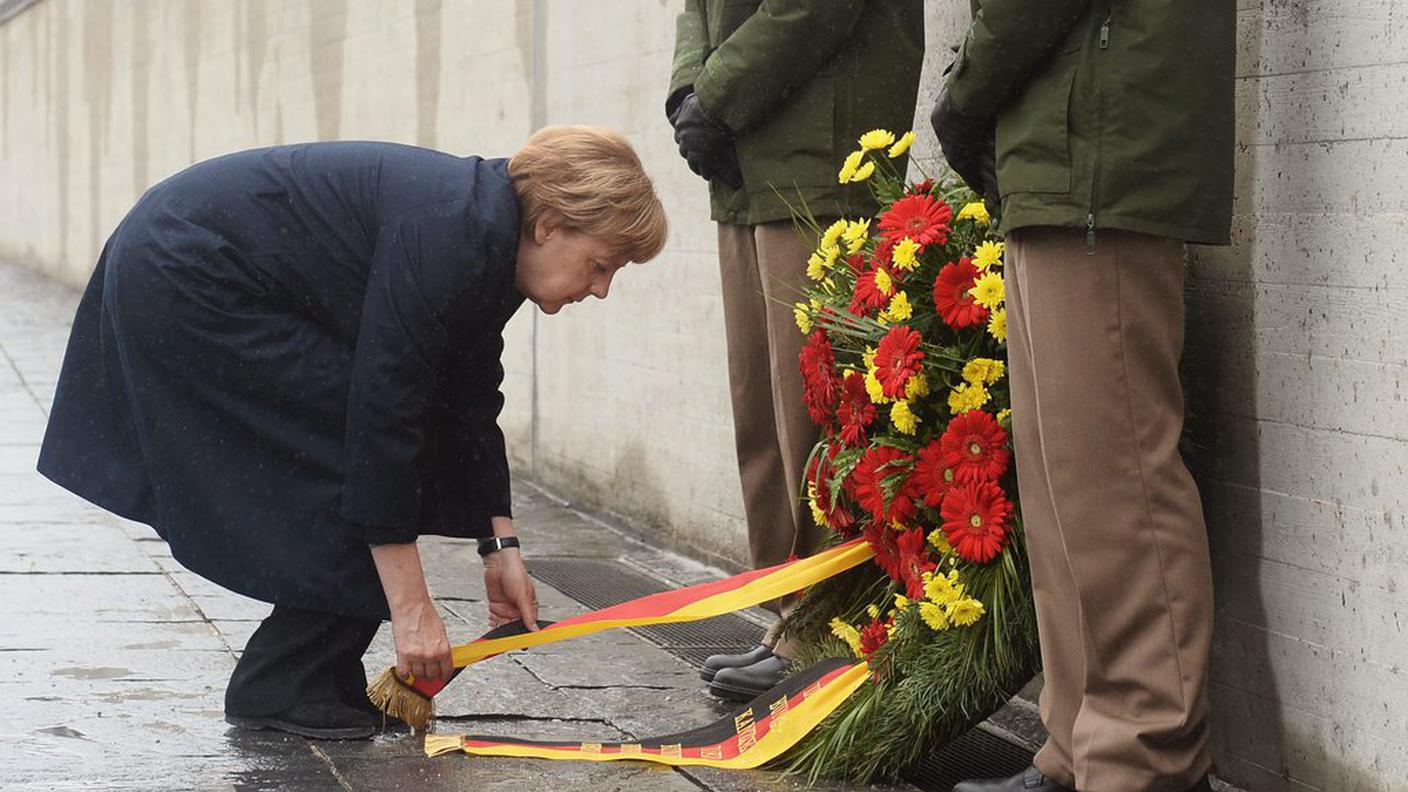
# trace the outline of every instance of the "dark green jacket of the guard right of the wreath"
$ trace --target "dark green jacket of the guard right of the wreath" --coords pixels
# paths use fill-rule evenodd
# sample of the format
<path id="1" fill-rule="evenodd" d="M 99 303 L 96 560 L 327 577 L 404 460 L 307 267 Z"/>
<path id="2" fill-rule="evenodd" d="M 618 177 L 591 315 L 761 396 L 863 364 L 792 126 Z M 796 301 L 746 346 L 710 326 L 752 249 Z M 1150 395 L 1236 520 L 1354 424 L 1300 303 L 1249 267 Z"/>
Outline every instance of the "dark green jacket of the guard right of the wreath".
<path id="1" fill-rule="evenodd" d="M 970 1 L 948 89 L 997 118 L 1002 231 L 1229 241 L 1235 3 Z"/>

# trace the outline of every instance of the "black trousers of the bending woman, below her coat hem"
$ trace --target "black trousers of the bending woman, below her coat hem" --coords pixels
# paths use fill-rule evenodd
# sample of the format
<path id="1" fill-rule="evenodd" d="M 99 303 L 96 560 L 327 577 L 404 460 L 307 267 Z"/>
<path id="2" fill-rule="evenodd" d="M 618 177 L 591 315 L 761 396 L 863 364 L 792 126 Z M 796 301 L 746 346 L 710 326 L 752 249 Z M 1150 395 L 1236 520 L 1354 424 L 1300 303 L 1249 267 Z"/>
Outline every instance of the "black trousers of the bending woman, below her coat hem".
<path id="1" fill-rule="evenodd" d="M 379 619 L 276 605 L 259 624 L 225 688 L 225 713 L 268 717 L 314 702 L 370 707 L 362 654 Z"/>

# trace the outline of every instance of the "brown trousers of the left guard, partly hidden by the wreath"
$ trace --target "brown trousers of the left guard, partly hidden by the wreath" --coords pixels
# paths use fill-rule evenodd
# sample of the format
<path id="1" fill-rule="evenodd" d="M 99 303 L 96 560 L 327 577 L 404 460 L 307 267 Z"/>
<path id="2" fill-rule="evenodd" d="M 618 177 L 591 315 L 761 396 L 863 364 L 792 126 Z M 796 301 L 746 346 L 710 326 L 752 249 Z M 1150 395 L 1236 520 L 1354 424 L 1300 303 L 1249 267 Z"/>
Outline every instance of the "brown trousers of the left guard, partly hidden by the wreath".
<path id="1" fill-rule="evenodd" d="M 797 357 L 805 338 L 793 318 L 810 252 L 791 223 L 718 224 L 734 438 L 755 568 L 810 555 L 819 536 L 800 496 L 817 427 L 801 400 Z M 769 633 L 765 643 L 790 657 L 790 641 Z"/>

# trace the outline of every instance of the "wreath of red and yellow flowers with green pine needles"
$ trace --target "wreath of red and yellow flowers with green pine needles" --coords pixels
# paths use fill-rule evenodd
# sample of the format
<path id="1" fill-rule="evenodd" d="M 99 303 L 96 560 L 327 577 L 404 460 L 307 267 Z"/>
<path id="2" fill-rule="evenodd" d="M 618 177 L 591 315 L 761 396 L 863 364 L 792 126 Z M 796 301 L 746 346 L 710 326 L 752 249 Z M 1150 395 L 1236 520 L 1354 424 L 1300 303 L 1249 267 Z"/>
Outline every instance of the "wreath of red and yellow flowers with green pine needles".
<path id="1" fill-rule="evenodd" d="M 869 185 L 880 213 L 821 227 L 794 210 L 817 238 L 794 306 L 821 430 L 801 495 L 832 541 L 863 536 L 876 555 L 808 589 L 786 629 L 807 645 L 798 660 L 849 654 L 873 672 L 787 761 L 869 782 L 1001 707 L 1036 671 L 1038 645 L 1010 448 L 1002 242 L 952 175 L 897 173 L 914 132 L 859 142 L 839 180 Z"/>

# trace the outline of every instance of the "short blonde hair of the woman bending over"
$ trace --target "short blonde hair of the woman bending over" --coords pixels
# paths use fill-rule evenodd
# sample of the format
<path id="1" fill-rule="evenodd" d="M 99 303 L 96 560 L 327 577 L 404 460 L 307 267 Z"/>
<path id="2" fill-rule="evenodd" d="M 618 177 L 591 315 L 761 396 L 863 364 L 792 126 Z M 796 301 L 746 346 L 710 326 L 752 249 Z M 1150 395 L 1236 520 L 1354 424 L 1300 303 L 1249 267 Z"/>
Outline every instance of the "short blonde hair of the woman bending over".
<path id="1" fill-rule="evenodd" d="M 543 127 L 508 161 L 524 233 L 543 216 L 604 240 L 629 261 L 650 261 L 669 225 L 631 144 L 600 127 Z"/>

